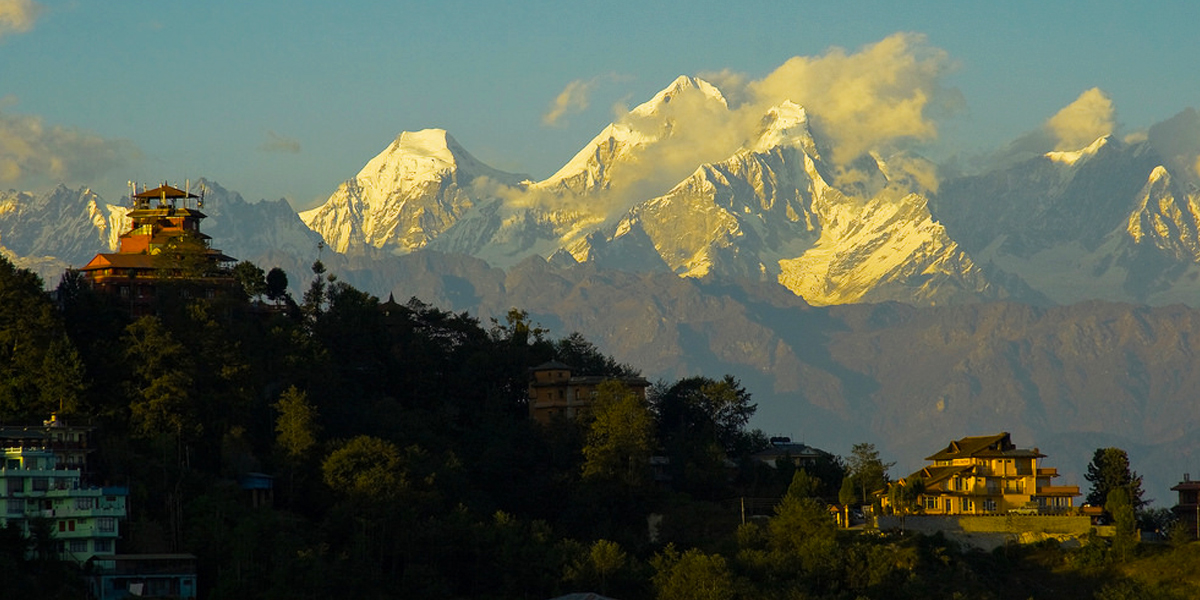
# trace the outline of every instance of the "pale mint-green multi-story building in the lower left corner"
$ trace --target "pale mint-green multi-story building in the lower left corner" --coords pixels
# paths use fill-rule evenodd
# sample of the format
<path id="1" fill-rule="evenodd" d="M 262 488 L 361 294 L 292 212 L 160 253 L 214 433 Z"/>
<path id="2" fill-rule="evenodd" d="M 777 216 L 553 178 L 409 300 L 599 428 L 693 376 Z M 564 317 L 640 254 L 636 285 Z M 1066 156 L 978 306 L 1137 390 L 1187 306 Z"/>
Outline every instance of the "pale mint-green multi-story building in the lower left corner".
<path id="1" fill-rule="evenodd" d="M 78 468 L 60 468 L 50 448 L 28 440 L 0 448 L 0 526 L 18 523 L 29 535 L 36 520 L 46 520 L 61 558 L 82 563 L 114 553 L 127 497 L 126 487 L 86 486 Z"/>

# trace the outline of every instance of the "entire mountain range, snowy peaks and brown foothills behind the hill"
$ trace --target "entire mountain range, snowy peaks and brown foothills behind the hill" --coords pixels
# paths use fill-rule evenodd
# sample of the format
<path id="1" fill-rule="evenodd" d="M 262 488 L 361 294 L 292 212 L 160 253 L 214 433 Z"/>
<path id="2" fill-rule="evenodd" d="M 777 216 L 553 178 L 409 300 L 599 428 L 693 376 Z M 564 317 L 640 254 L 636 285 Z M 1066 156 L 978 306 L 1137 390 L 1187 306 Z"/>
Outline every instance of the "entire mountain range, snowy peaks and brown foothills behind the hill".
<path id="1" fill-rule="evenodd" d="M 524 308 L 652 378 L 733 373 L 756 426 L 874 440 L 896 475 L 1010 431 L 1086 487 L 1091 450 L 1120 445 L 1169 502 L 1200 451 L 1194 169 L 1153 136 L 960 176 L 904 152 L 839 162 L 791 102 L 695 130 L 736 114 L 680 77 L 541 181 L 425 130 L 299 215 L 196 185 L 214 246 L 294 286 L 320 257 L 380 296 Z M 53 284 L 115 247 L 125 210 L 86 188 L 0 192 L 0 252 Z"/>

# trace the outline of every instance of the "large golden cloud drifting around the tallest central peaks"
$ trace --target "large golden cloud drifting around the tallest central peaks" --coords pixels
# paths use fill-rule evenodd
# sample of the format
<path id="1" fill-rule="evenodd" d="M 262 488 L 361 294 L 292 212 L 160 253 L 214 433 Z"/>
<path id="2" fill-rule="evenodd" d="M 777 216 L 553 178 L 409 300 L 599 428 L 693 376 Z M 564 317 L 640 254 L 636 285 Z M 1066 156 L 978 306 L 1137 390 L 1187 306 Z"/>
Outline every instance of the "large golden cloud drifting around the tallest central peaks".
<path id="1" fill-rule="evenodd" d="M 942 85 L 954 66 L 924 36 L 895 34 L 858 52 L 832 48 L 820 56 L 796 56 L 757 80 L 733 71 L 704 73 L 701 78 L 720 90 L 724 102 L 688 88 L 650 115 L 614 108 L 614 122 L 629 130 L 631 139 L 646 143 L 635 150 L 636 157 L 610 164 L 608 187 L 581 200 L 589 210 L 602 206 L 616 216 L 632 203 L 665 193 L 696 167 L 724 161 L 752 143 L 767 112 L 785 101 L 808 110 L 810 125 L 829 144 L 826 157 L 844 169 L 869 151 L 887 156 L 934 140 L 937 119 L 962 106 L 961 95 Z M 584 109 L 594 83 L 571 82 L 544 121 L 552 125 Z M 936 188 L 926 166 L 906 161 L 896 167 Z M 538 193 L 515 196 L 521 204 L 566 202 Z"/>

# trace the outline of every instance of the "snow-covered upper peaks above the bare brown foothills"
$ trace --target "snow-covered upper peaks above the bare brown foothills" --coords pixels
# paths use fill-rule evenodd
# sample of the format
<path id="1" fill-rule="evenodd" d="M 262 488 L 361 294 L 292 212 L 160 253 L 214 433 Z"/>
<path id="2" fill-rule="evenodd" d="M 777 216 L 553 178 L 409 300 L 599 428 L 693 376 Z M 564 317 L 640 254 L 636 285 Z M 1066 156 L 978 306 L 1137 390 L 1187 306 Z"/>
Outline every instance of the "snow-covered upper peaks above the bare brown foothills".
<path id="1" fill-rule="evenodd" d="M 712 150 L 719 158 L 690 174 L 664 158 L 697 143 L 680 115 L 730 110 L 715 86 L 680 77 L 542 181 L 488 170 L 444 132 L 404 133 L 302 217 L 338 251 L 757 277 L 817 305 L 1168 304 L 1200 292 L 1196 194 L 1148 142 L 1105 137 L 930 182 L 935 167 L 910 155 L 829 162 L 804 108 L 784 102 L 732 154 Z M 414 151 L 406 136 L 428 143 Z M 414 170 L 431 152 L 444 156 L 439 167 Z"/>

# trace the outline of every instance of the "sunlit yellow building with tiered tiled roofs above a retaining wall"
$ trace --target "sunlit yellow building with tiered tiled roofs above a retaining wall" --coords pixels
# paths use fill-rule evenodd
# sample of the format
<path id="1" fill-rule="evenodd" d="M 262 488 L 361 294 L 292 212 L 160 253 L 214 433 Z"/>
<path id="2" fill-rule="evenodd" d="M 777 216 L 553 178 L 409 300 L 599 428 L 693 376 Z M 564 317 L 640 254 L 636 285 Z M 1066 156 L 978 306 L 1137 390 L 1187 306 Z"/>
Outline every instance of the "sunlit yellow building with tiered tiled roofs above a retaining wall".
<path id="1" fill-rule="evenodd" d="M 1037 448 L 1016 448 L 1008 432 L 967 437 L 926 457 L 932 464 L 894 485 L 920 478 L 917 504 L 926 515 L 1073 511 L 1079 486 L 1052 485 L 1058 469 L 1038 467 L 1044 457 Z"/>

